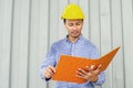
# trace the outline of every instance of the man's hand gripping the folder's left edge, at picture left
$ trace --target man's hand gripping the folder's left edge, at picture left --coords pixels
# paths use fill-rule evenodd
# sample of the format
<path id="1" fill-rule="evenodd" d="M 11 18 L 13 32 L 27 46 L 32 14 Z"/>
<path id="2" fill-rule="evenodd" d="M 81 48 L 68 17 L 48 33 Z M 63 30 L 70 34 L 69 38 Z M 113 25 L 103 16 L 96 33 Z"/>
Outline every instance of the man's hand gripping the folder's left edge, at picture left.
<path id="1" fill-rule="evenodd" d="M 55 68 L 53 66 L 48 66 L 44 70 L 44 77 L 51 78 L 55 73 Z"/>

